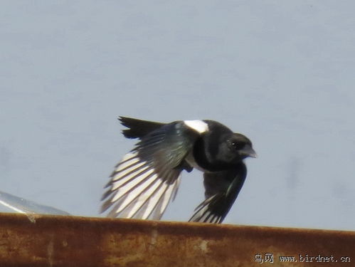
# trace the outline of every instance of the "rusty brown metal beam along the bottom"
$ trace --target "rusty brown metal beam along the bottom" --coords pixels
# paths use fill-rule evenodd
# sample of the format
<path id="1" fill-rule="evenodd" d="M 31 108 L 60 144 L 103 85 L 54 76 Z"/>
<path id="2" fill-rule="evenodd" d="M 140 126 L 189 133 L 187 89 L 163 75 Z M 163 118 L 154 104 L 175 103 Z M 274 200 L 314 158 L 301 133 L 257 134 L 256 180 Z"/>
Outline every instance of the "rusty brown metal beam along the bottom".
<path id="1" fill-rule="evenodd" d="M 259 266 L 265 253 L 262 266 L 355 266 L 355 231 L 0 214 L 1 267 Z"/>

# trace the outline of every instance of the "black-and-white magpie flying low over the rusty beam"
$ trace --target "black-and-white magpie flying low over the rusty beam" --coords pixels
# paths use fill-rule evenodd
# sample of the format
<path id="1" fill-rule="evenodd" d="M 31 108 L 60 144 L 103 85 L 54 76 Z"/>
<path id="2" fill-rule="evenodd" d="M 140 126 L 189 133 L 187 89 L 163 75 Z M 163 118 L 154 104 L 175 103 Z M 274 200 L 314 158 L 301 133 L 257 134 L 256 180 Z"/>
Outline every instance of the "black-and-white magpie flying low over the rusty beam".
<path id="1" fill-rule="evenodd" d="M 138 139 L 115 166 L 101 198 L 108 217 L 159 220 L 179 189 L 181 172 L 203 172 L 205 199 L 189 221 L 221 224 L 243 187 L 252 142 L 214 120 L 170 123 L 119 117 L 124 137 Z"/>

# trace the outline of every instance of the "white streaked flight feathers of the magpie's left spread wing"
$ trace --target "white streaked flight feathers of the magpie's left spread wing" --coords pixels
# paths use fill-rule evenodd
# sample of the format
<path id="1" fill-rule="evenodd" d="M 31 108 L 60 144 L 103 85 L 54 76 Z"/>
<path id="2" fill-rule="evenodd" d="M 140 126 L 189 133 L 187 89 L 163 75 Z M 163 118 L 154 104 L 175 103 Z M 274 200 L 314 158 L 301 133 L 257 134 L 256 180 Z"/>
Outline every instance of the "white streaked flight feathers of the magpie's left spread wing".
<path id="1" fill-rule="evenodd" d="M 112 217 L 155 219 L 161 218 L 179 187 L 180 176 L 172 183 L 164 182 L 154 167 L 139 159 L 137 152 L 124 155 L 112 174 L 110 189 L 102 209 L 114 205 Z"/>

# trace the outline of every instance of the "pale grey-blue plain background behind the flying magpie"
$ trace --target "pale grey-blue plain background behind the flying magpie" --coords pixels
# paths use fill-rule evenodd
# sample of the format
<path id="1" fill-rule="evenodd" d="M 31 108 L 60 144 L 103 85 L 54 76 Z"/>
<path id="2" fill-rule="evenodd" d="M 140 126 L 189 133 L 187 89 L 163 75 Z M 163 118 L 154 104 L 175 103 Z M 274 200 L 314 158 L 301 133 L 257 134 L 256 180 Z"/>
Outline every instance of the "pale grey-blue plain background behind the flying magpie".
<path id="1" fill-rule="evenodd" d="M 228 224 L 355 230 L 355 1 L 1 1 L 0 191 L 101 216 L 119 115 L 253 141 Z M 203 200 L 184 173 L 164 220 Z"/>

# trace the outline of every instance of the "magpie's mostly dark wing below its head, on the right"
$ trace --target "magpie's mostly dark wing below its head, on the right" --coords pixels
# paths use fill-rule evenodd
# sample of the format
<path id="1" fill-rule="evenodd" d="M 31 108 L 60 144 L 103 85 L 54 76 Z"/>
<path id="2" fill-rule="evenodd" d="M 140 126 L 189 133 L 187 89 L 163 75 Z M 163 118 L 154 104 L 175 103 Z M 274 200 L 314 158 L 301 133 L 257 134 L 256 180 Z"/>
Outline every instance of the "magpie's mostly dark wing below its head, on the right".
<path id="1" fill-rule="evenodd" d="M 195 214 L 189 221 L 221 224 L 231 209 L 246 177 L 246 167 L 240 162 L 234 169 L 221 172 L 205 172 L 205 201 L 195 209 Z"/>

